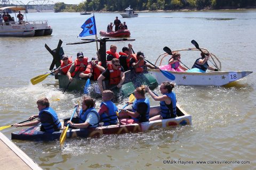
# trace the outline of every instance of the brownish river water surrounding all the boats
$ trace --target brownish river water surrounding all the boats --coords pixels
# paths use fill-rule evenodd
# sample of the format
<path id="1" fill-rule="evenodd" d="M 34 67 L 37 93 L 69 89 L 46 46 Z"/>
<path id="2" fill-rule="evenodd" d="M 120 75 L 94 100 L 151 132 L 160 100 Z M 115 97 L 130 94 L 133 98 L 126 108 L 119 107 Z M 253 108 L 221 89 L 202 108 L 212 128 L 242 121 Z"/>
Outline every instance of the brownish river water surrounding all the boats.
<path id="1" fill-rule="evenodd" d="M 98 32 L 106 30 L 115 16 L 121 18 L 118 13 L 95 13 Z M 54 49 L 61 39 L 65 54 L 75 57 L 82 51 L 89 58 L 95 56 L 95 43 L 66 45 L 81 40 L 77 36 L 88 15 L 28 13 L 27 17 L 48 20 L 53 33 L 48 37 L 0 38 L 1 126 L 37 114 L 38 98 L 49 98 L 60 118 L 70 116 L 74 104 L 81 99 L 81 94 L 63 95 L 51 76 L 35 86 L 30 83 L 31 78 L 49 71 L 52 56 L 45 44 Z M 67 139 L 63 149 L 59 141 L 13 142 L 43 169 L 255 169 L 256 11 L 139 13 L 138 18 L 121 18 L 121 21 L 126 21 L 131 38 L 136 39 L 132 42 L 133 49 L 144 52 L 150 61 L 164 53 L 164 46 L 172 50 L 192 48 L 190 41 L 195 39 L 200 47 L 219 57 L 223 71 L 254 73 L 222 87 L 176 86 L 178 103 L 192 115 L 193 125 L 95 139 Z M 128 42 L 114 44 L 119 52 Z M 107 49 L 110 45 L 107 43 Z M 191 67 L 198 56 L 199 52 L 189 53 L 181 59 Z M 155 92 L 159 94 L 158 89 Z M 100 102 L 97 101 L 97 107 Z M 151 101 L 151 105 L 157 104 Z M 2 132 L 11 138 L 11 132 L 20 129 L 8 128 Z M 165 160 L 176 162 L 163 164 Z M 196 162 L 201 160 L 213 163 Z M 247 164 L 218 164 L 215 160 L 239 160 Z"/>

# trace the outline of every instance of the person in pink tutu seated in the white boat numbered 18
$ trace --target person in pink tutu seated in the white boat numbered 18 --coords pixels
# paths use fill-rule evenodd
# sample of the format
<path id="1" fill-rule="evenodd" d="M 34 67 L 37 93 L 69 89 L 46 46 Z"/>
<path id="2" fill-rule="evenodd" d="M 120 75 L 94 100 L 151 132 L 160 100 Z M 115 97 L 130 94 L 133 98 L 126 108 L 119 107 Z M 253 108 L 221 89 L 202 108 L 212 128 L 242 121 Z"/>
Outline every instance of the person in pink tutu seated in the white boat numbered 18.
<path id="1" fill-rule="evenodd" d="M 185 72 L 187 69 L 180 65 L 180 53 L 174 53 L 167 65 L 160 66 L 161 70 Z"/>

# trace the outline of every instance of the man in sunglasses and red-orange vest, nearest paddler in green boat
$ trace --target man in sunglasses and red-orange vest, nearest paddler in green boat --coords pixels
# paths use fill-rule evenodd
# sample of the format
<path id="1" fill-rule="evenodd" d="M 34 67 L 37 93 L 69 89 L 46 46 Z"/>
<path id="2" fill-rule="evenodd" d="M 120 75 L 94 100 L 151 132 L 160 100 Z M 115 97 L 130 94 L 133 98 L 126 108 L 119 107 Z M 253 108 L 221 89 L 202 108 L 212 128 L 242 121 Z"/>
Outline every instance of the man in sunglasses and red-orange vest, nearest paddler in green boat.
<path id="1" fill-rule="evenodd" d="M 98 78 L 98 84 L 100 87 L 101 93 L 103 92 L 103 80 L 108 80 L 108 88 L 111 89 L 114 87 L 121 88 L 125 79 L 124 68 L 120 65 L 117 58 L 113 58 L 111 63 L 107 64 L 107 69 L 100 74 Z"/>

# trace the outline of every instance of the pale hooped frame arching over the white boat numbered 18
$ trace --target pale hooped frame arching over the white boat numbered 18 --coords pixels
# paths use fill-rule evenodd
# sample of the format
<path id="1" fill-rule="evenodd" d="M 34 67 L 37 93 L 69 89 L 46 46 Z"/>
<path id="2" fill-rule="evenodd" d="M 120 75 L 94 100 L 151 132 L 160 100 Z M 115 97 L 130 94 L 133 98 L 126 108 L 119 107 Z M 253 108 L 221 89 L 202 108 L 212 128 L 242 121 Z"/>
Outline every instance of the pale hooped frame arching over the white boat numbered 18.
<path id="1" fill-rule="evenodd" d="M 210 57 L 212 58 L 212 61 L 214 62 L 215 66 L 217 66 L 217 69 L 218 69 L 219 71 L 221 71 L 221 62 L 219 61 L 218 57 L 215 56 L 214 54 L 210 53 L 209 50 L 207 50 L 206 48 L 201 48 L 201 49 L 203 50 L 203 52 L 210 54 Z M 178 50 L 173 50 L 172 53 L 181 52 L 181 51 L 189 51 L 189 50 L 198 51 L 199 49 L 197 49 L 197 48 L 178 49 Z M 155 62 L 155 65 L 157 64 L 157 61 L 161 58 L 160 63 L 159 63 L 159 66 L 161 66 L 162 61 L 163 61 L 163 59 L 164 59 L 166 56 L 169 56 L 169 54 L 163 53 L 163 54 L 159 55 L 158 58 L 157 58 L 157 60 L 156 60 L 156 62 Z M 215 60 L 216 60 L 216 61 L 215 61 Z M 218 64 L 217 64 L 217 62 L 218 62 Z"/>

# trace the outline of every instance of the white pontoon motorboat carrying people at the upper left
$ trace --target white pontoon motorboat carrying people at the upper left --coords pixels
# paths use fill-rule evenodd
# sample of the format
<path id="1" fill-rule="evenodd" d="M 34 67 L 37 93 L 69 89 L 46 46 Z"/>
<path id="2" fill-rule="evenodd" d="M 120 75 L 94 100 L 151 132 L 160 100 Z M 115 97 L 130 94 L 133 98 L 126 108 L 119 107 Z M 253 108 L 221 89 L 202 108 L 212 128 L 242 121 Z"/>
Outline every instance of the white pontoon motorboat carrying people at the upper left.
<path id="1" fill-rule="evenodd" d="M 7 6 L 1 7 L 0 13 L 12 10 L 15 12 L 15 17 L 7 22 L 0 23 L 0 36 L 12 37 L 34 37 L 34 36 L 48 36 L 52 34 L 52 28 L 48 25 L 47 20 L 44 21 L 28 21 L 25 13 L 25 7 Z M 24 11 L 26 20 L 17 21 L 16 12 Z"/>

